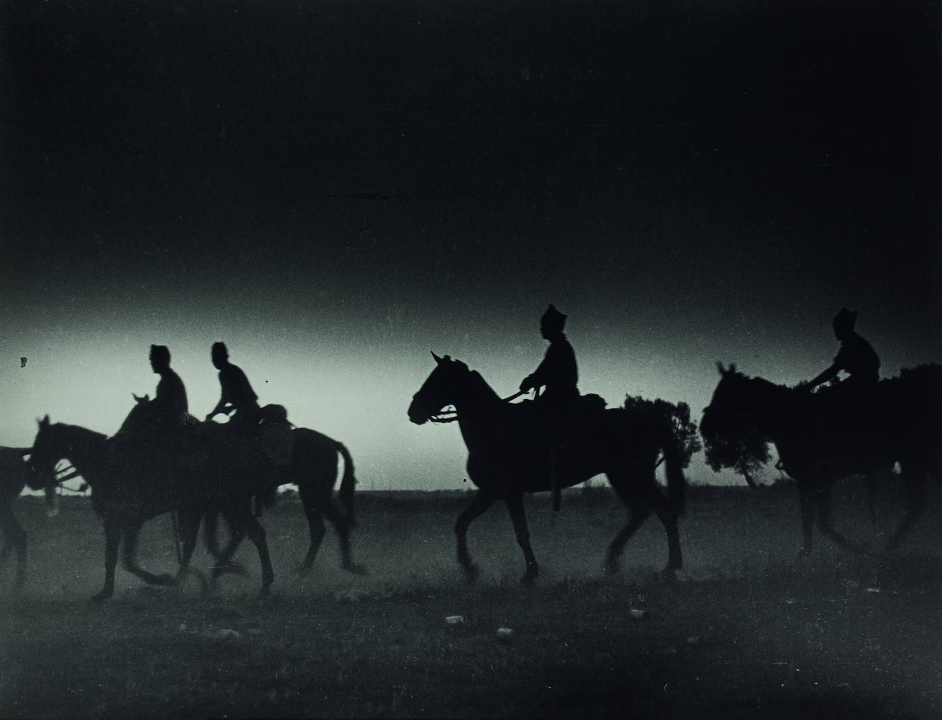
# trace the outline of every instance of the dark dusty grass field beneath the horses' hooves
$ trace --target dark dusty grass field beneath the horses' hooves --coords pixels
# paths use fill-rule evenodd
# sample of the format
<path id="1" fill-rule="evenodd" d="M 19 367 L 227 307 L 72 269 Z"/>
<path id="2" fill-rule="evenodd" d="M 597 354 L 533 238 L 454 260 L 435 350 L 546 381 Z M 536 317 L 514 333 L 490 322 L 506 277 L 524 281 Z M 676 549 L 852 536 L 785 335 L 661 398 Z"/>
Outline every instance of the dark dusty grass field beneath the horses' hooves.
<path id="1" fill-rule="evenodd" d="M 263 518 L 269 597 L 246 545 L 252 577 L 212 595 L 119 569 L 100 605 L 89 597 L 104 540 L 88 500 L 46 518 L 41 499 L 21 499 L 30 581 L 13 597 L 11 568 L 0 574 L 0 716 L 942 717 L 937 488 L 892 557 L 879 549 L 899 492 L 882 490 L 871 524 L 861 489 L 838 487 L 836 522 L 875 551 L 821 541 L 800 560 L 792 485 L 692 488 L 676 581 L 658 574 L 657 521 L 629 544 L 622 573 L 603 576 L 624 521 L 608 490 L 564 493 L 555 519 L 534 496 L 535 587 L 517 583 L 523 559 L 502 507 L 472 526 L 481 576 L 462 581 L 451 529 L 463 493 L 361 494 L 353 547 L 370 575 L 339 569 L 329 532 L 312 575 L 294 578 L 306 526 L 284 497 Z M 170 529 L 161 517 L 144 533 L 149 569 L 175 565 Z M 208 565 L 202 550 L 196 565 Z"/>

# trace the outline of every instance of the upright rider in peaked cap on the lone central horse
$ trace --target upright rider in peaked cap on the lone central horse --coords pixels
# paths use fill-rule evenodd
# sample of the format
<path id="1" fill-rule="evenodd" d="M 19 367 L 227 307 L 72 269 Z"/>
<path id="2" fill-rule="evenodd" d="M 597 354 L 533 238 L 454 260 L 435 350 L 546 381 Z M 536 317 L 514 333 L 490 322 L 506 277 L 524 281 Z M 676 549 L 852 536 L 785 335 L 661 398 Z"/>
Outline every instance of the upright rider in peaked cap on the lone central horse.
<path id="1" fill-rule="evenodd" d="M 553 475 L 553 507 L 559 509 L 559 491 L 556 483 L 557 453 L 565 444 L 570 417 L 576 404 L 578 369 L 576 352 L 562 332 L 568 316 L 560 313 L 552 304 L 540 319 L 540 335 L 549 340 L 543 362 L 520 383 L 521 392 L 544 387 L 539 397 L 543 409 L 544 427 L 550 441 L 550 472 Z"/>

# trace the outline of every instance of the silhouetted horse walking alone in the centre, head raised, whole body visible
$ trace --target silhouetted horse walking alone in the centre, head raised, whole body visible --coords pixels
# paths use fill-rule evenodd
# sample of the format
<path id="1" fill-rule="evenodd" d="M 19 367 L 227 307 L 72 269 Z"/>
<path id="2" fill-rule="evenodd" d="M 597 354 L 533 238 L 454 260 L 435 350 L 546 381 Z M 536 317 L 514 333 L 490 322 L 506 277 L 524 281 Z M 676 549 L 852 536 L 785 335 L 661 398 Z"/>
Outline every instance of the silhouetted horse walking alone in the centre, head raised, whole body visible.
<path id="1" fill-rule="evenodd" d="M 467 472 L 478 491 L 455 523 L 457 559 L 464 577 L 473 581 L 479 574 L 467 548 L 471 522 L 498 499 L 507 504 L 523 550 L 526 572 L 521 578 L 531 584 L 539 577 L 530 546 L 524 493 L 569 487 L 605 473 L 609 483 L 629 510 L 629 519 L 609 544 L 605 568 L 617 572 L 625 544 L 652 512 L 667 533 L 666 575 L 683 565 L 677 518 L 683 512 L 686 479 L 680 450 L 670 423 L 642 411 L 594 410 L 568 438 L 555 467 L 547 467 L 550 448 L 539 427 L 537 402 L 503 401 L 481 377 L 460 360 L 449 356 L 435 359 L 435 368 L 414 394 L 409 419 L 417 425 L 429 420 L 444 421 L 447 406 L 455 408 L 464 444 L 468 450 Z M 664 454 L 667 493 L 658 486 L 655 468 Z"/>

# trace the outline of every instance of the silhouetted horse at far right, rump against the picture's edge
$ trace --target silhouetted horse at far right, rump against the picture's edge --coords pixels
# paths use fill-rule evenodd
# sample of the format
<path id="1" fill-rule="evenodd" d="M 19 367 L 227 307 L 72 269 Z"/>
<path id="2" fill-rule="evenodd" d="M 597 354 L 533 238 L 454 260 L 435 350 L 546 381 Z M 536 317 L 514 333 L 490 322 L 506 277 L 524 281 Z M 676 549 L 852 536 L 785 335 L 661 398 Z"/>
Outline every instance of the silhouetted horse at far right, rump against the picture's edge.
<path id="1" fill-rule="evenodd" d="M 927 476 L 942 474 L 942 367 L 904 369 L 897 378 L 853 394 L 843 388 L 811 394 L 801 386 L 747 377 L 735 365 L 718 363 L 717 368 L 720 383 L 700 423 L 707 450 L 722 444 L 741 447 L 756 433 L 775 445 L 780 466 L 797 483 L 803 556 L 812 550 L 816 512 L 820 532 L 838 547 L 868 548 L 834 529 L 831 486 L 851 475 L 872 479 L 895 463 L 907 511 L 886 548 L 900 544 L 925 509 Z"/>

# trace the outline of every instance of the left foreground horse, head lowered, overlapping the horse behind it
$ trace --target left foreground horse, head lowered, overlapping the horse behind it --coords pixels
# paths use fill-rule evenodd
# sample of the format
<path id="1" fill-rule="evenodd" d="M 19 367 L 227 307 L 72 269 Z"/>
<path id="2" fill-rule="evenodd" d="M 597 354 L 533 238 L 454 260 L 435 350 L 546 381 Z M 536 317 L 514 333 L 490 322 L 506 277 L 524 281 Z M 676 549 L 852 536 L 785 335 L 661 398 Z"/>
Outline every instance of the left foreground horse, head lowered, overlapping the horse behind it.
<path id="1" fill-rule="evenodd" d="M 91 487 L 91 502 L 105 530 L 105 585 L 96 601 L 114 595 L 115 566 L 123 540 L 122 566 L 142 581 L 176 585 L 185 580 L 196 547 L 203 516 L 220 512 L 241 539 L 248 534 L 262 565 L 262 592 L 274 581 L 265 529 L 252 515 L 252 496 L 264 473 L 262 458 L 224 434 L 194 430 L 186 451 L 175 453 L 170 444 L 148 448 L 131 441 L 115 442 L 105 434 L 63 423 L 39 421 L 33 442 L 28 484 L 41 489 L 57 483 L 57 462 L 68 459 Z M 136 562 L 138 533 L 156 515 L 176 511 L 182 540 L 176 577 L 155 575 Z M 228 568 L 221 557 L 213 578 Z"/>

